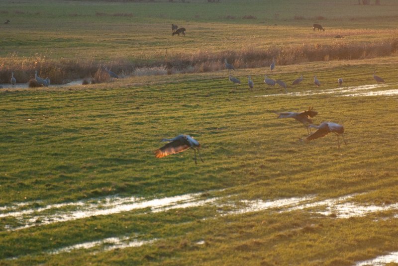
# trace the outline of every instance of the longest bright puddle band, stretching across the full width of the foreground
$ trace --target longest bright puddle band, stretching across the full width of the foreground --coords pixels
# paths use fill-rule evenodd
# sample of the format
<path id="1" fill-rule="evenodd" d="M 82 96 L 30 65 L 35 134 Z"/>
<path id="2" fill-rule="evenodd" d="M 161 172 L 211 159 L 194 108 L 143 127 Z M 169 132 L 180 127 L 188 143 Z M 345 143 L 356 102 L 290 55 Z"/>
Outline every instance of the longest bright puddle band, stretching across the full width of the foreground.
<path id="1" fill-rule="evenodd" d="M 272 208 L 284 208 L 279 212 L 319 208 L 319 210 L 313 210 L 312 212 L 326 216 L 334 215 L 336 218 L 350 218 L 364 216 L 374 212 L 398 210 L 398 203 L 377 206 L 359 205 L 350 202 L 349 200 L 356 194 L 321 201 L 314 201 L 315 196 L 308 195 L 304 197 L 292 197 L 268 201 L 240 200 L 239 202 L 231 201 L 229 203 L 220 204 L 217 204 L 217 201 L 221 200 L 219 197 L 204 199 L 201 198 L 201 195 L 202 192 L 199 192 L 152 200 L 144 200 L 143 198 L 136 197 L 111 196 L 87 201 L 50 204 L 44 207 L 30 208 L 20 211 L 9 211 L 0 214 L 0 218 L 15 217 L 21 224 L 19 227 L 12 228 L 9 225 L 4 226 L 4 229 L 7 231 L 14 231 L 32 226 L 42 226 L 98 215 L 111 215 L 137 209 L 148 209 L 146 210 L 147 212 L 161 212 L 176 208 L 192 208 L 209 204 L 215 205 L 219 208 L 226 207 L 228 210 L 221 211 L 221 216 L 258 212 Z M 24 204 L 21 204 L 21 206 L 23 205 Z M 18 204 L 14 204 L 12 208 L 15 206 L 18 206 Z M 66 210 L 65 207 L 70 209 Z M 10 210 L 10 208 L 8 207 L 7 210 Z M 51 214 L 49 214 L 49 212 L 51 212 Z"/>

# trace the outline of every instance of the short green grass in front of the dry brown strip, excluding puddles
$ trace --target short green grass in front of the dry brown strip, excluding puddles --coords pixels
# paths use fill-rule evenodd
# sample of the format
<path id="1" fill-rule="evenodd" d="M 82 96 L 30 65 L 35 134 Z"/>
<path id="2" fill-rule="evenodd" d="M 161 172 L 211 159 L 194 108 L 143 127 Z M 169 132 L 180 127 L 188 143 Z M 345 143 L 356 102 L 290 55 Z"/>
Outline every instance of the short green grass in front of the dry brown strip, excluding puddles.
<path id="1" fill-rule="evenodd" d="M 376 63 L 378 70 L 383 70 L 379 75 L 394 83 L 396 64 L 383 60 Z M 299 65 L 294 70 L 280 67 L 274 75 L 293 80 L 302 73 L 305 82 L 288 87 L 301 92 L 337 88 L 340 73 L 352 77 L 347 84 L 375 83 L 371 78 L 373 68 L 366 65 L 317 66 Z M 313 72 L 307 68 L 318 70 L 320 88 L 311 84 Z M 37 206 L 43 206 L 116 194 L 151 199 L 220 188 L 226 190 L 216 195 L 233 195 L 232 199 L 271 200 L 308 194 L 334 198 L 366 192 L 355 200 L 396 202 L 397 96 L 314 93 L 305 97 L 255 97 L 283 89 L 261 84 L 263 69 L 238 70 L 234 75 L 245 84 L 246 75 L 253 72 L 253 90 L 246 85 L 234 89 L 226 71 L 132 78 L 84 88 L 3 90 L 1 205 L 41 200 Z M 345 126 L 347 147 L 341 143 L 337 148 L 333 134 L 305 144 L 300 139 L 306 129 L 293 119 L 277 119 L 274 113 L 308 106 L 318 111 L 314 123 L 333 121 Z M 195 165 L 192 151 L 163 159 L 154 157 L 152 152 L 163 145 L 162 138 L 181 133 L 199 140 L 204 163 Z M 15 232 L 5 231 L 7 225 L 18 225 L 16 219 L 7 217 L 1 219 L 2 258 L 28 256 L 2 262 L 51 265 L 62 261 L 79 265 L 90 260 L 99 264 L 192 265 L 200 261 L 215 265 L 223 261 L 232 265 L 249 260 L 264 264 L 349 264 L 397 249 L 392 220 L 379 220 L 379 214 L 348 220 L 317 215 L 311 219 L 306 211 L 271 214 L 213 220 L 208 218 L 217 215 L 214 207 L 159 214 L 133 211 Z M 394 212 L 385 215 L 391 217 Z M 106 252 L 93 256 L 85 250 L 54 256 L 42 253 L 112 236 L 135 235 L 144 240 L 159 238 L 160 242 L 120 250 L 114 256 Z M 325 238 L 328 242 L 322 240 Z M 208 244 L 198 247 L 195 243 L 201 239 Z M 344 243 L 359 243 L 357 247 L 347 244 L 352 248 L 343 257 L 341 250 L 347 250 L 347 246 L 341 244 L 342 239 Z M 297 248 L 299 243 L 307 243 L 305 251 Z M 308 256 L 312 249 L 318 252 Z M 287 250 L 292 252 L 284 252 Z"/>

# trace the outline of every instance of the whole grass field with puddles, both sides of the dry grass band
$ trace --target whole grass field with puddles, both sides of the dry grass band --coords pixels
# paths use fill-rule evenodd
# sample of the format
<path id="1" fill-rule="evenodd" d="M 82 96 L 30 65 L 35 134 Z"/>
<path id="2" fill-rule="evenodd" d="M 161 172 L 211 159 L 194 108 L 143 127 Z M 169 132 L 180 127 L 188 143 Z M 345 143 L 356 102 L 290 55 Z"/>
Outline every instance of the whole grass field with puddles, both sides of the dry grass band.
<path id="1" fill-rule="evenodd" d="M 0 71 L 34 58 L 134 64 L 165 47 L 189 58 L 327 45 L 341 33 L 347 45 L 372 45 L 396 33 L 395 1 L 297 2 L 6 1 Z M 325 32 L 312 32 L 316 16 Z M 171 23 L 187 35 L 172 37 Z M 0 89 L 0 265 L 348 266 L 397 252 L 397 55 L 239 68 L 236 89 L 222 63 Z M 374 86 L 374 71 L 386 84 Z M 300 123 L 274 113 L 309 106 L 315 124 L 344 125 L 347 146 L 334 134 L 305 143 Z M 155 158 L 160 140 L 179 134 L 200 142 L 203 163 L 192 150 Z"/>

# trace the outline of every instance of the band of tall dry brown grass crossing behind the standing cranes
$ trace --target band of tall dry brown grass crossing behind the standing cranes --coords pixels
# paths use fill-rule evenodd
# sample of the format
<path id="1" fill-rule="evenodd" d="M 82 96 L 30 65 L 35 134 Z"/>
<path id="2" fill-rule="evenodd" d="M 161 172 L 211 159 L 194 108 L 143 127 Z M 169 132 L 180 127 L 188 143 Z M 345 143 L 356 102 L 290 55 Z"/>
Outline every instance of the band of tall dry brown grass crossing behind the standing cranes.
<path id="1" fill-rule="evenodd" d="M 335 32 L 330 33 L 335 39 Z M 303 62 L 354 60 L 390 56 L 398 51 L 398 39 L 374 43 L 350 43 L 345 39 L 336 39 L 329 44 L 302 44 L 292 46 L 273 46 L 268 48 L 243 47 L 240 50 L 207 52 L 197 50 L 190 54 L 176 54 L 167 59 L 148 62 L 113 60 L 107 67 L 123 76 L 167 75 L 174 73 L 202 73 L 224 69 L 224 59 L 235 68 L 268 67 L 272 58 L 278 65 L 292 65 Z M 0 59 L 0 82 L 8 83 L 11 72 L 18 83 L 28 82 L 38 71 L 40 77 L 48 77 L 52 84 L 65 84 L 74 79 L 92 77 L 96 83 L 108 82 L 109 76 L 102 70 L 103 62 L 94 60 L 49 60 L 36 55 L 20 58 L 12 54 Z"/>

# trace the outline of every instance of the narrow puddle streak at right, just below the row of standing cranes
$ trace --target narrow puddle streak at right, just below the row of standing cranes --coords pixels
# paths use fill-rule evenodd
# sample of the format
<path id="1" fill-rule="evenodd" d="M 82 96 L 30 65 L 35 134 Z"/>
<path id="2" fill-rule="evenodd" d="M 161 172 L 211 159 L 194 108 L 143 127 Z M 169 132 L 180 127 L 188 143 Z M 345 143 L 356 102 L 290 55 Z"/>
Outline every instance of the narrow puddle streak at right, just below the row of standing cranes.
<path id="1" fill-rule="evenodd" d="M 307 90 L 303 92 L 289 92 L 289 93 L 277 93 L 277 94 L 268 94 L 268 95 L 257 95 L 255 97 L 270 97 L 270 96 L 282 96 L 282 95 L 291 95 L 291 96 L 308 96 L 308 95 L 318 95 L 318 94 L 343 94 L 348 92 L 355 92 L 361 90 L 368 90 L 368 89 L 377 89 L 377 88 L 384 88 L 390 87 L 397 84 L 372 84 L 372 85 L 363 85 L 363 86 L 352 86 L 352 87 L 343 87 L 343 88 L 335 88 L 335 89 L 323 89 L 323 90 Z M 374 91 L 376 92 L 376 91 Z M 371 92 L 370 92 L 371 93 Z M 361 94 L 361 93 L 358 93 Z M 375 94 L 379 95 L 379 94 Z M 383 94 L 380 94 L 383 95 Z M 345 95 L 343 95 L 345 96 Z M 347 95 L 348 96 L 348 95 Z M 351 96 L 356 96 L 356 94 L 351 94 Z"/>

